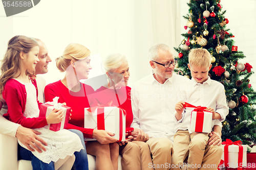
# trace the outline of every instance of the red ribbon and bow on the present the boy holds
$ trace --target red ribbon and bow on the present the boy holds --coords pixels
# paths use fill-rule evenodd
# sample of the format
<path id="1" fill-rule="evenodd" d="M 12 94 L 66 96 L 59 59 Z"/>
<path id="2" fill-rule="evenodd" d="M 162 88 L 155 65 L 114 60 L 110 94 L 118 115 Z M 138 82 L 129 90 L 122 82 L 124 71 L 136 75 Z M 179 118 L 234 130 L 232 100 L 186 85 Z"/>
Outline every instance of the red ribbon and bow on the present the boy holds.
<path id="1" fill-rule="evenodd" d="M 201 106 L 194 106 L 194 105 L 191 105 L 189 103 L 186 103 L 183 105 L 184 108 L 186 107 L 193 107 L 195 108 L 193 111 L 196 111 L 197 112 L 197 118 L 196 118 L 196 122 L 204 122 L 204 111 L 205 112 L 210 112 L 211 111 L 208 111 L 208 110 L 205 110 L 207 107 L 201 107 Z M 191 114 L 192 116 L 192 114 Z M 191 118 L 190 118 L 191 119 Z M 198 124 L 196 125 L 195 127 L 195 132 L 202 132 L 203 131 L 203 124 Z"/>

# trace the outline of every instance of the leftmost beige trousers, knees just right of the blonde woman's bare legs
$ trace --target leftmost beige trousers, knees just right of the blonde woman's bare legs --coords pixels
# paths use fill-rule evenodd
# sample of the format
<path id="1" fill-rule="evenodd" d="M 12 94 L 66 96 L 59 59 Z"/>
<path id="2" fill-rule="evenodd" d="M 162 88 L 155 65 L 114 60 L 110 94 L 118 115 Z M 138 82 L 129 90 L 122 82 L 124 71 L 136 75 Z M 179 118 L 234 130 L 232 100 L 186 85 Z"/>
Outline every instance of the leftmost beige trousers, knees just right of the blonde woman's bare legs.
<path id="1" fill-rule="evenodd" d="M 122 155 L 121 163 L 123 170 L 148 170 L 148 164 L 152 164 L 150 148 L 148 144 L 142 141 L 129 141 L 126 145 L 120 147 Z"/>

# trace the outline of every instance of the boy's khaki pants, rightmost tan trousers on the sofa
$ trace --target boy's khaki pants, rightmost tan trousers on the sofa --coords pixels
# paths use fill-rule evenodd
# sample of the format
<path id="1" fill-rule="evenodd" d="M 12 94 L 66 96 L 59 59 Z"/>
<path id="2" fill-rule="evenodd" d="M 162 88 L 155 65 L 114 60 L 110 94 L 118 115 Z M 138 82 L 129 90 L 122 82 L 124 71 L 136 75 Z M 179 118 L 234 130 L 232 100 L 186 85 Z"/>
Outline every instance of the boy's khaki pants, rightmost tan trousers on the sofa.
<path id="1" fill-rule="evenodd" d="M 172 169 L 181 169 L 187 159 L 187 169 L 217 169 L 222 156 L 222 146 L 208 145 L 208 133 L 178 130 L 174 136 Z M 179 167 L 181 165 L 181 167 Z"/>

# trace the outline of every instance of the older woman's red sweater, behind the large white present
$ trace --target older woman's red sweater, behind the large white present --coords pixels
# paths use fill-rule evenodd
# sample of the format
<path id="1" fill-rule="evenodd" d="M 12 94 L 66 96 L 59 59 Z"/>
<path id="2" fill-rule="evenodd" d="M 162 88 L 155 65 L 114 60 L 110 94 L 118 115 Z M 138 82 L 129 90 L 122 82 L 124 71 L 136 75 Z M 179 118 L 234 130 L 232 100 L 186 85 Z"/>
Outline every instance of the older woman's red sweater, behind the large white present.
<path id="1" fill-rule="evenodd" d="M 131 104 L 131 87 L 121 87 L 117 89 L 117 95 L 120 103 L 120 107 L 126 111 L 126 128 L 130 128 L 133 122 L 133 111 Z M 106 103 L 113 102 L 115 106 L 119 106 L 116 93 L 114 89 L 109 89 L 101 86 L 95 91 L 95 98 L 99 104 L 105 105 Z"/>

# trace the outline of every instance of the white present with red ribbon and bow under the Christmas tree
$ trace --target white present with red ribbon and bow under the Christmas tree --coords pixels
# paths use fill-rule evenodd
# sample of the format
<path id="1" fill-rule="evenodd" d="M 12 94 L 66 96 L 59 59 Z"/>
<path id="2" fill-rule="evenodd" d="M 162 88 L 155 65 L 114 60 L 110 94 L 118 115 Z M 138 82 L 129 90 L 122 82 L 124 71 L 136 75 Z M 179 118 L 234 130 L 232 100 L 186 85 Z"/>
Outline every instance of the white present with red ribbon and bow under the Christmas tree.
<path id="1" fill-rule="evenodd" d="M 224 160 L 225 167 L 237 168 L 238 170 L 247 165 L 247 147 L 242 145 L 240 140 L 232 142 L 230 139 L 222 142 L 224 153 L 222 160 Z"/>

